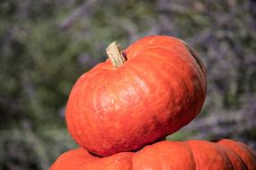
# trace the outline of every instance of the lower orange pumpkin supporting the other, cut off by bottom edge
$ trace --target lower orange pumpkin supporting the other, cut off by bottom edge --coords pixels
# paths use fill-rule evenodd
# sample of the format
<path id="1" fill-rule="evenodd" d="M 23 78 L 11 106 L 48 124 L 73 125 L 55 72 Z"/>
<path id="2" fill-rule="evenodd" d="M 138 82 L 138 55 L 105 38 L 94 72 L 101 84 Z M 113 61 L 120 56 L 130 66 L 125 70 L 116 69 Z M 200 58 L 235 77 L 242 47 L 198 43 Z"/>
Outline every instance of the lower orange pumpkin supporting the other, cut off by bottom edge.
<path id="1" fill-rule="evenodd" d="M 255 170 L 256 155 L 234 140 L 161 141 L 137 152 L 95 157 L 80 148 L 57 158 L 50 170 Z"/>

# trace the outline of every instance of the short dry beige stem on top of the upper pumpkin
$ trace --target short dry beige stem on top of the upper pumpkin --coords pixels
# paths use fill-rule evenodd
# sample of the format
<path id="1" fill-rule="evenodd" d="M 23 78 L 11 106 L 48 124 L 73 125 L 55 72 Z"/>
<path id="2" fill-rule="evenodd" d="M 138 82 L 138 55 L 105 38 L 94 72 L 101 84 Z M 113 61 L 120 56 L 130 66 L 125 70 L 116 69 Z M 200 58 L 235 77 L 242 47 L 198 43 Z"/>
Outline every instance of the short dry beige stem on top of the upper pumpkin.
<path id="1" fill-rule="evenodd" d="M 119 44 L 116 41 L 112 42 L 110 46 L 107 47 L 106 51 L 111 64 L 116 68 L 120 67 L 127 60 L 126 56 L 122 54 Z"/>

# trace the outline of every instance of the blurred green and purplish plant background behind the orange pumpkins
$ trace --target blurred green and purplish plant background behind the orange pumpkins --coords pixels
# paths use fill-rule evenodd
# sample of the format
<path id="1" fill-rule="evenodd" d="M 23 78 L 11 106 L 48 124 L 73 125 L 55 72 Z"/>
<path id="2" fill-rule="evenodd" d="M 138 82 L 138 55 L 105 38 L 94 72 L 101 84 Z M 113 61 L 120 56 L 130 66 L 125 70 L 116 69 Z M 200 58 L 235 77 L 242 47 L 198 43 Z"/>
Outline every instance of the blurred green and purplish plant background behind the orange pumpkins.
<path id="1" fill-rule="evenodd" d="M 152 34 L 184 39 L 207 66 L 201 114 L 167 139 L 256 149 L 255 9 L 249 0 L 1 0 L 0 169 L 48 169 L 74 149 L 65 106 L 75 81 L 111 41 L 125 48 Z"/>

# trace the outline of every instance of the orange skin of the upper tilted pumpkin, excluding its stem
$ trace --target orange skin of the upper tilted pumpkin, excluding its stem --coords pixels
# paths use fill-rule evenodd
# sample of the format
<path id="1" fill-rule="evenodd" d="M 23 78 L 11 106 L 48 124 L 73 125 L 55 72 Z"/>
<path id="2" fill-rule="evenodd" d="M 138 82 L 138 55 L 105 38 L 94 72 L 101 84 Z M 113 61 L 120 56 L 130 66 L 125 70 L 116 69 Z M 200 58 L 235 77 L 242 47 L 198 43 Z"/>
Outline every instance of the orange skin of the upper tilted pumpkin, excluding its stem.
<path id="1" fill-rule="evenodd" d="M 199 57 L 181 40 L 142 38 L 85 72 L 70 93 L 66 124 L 73 139 L 98 156 L 134 151 L 176 132 L 199 115 L 207 80 Z"/>

